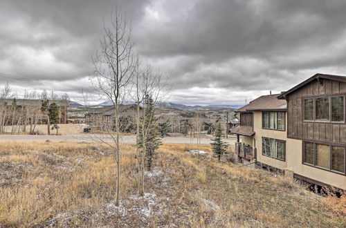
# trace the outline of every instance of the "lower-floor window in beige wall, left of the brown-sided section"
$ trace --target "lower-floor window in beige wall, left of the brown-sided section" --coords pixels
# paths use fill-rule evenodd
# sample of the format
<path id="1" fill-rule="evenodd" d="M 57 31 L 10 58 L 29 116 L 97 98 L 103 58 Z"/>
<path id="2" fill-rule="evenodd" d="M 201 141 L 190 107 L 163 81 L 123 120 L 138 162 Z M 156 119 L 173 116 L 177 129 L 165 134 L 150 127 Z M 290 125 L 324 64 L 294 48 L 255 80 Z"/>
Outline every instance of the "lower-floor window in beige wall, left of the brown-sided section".
<path id="1" fill-rule="evenodd" d="M 285 141 L 262 137 L 262 155 L 284 161 L 285 153 Z"/>

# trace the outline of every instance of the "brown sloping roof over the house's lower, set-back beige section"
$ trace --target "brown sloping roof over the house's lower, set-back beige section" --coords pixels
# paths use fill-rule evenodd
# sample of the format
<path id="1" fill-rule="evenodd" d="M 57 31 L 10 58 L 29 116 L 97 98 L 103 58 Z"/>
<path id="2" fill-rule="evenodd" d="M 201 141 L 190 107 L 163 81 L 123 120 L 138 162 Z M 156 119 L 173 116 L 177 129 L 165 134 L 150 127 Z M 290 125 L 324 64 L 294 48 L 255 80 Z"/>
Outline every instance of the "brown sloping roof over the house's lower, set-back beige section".
<path id="1" fill-rule="evenodd" d="M 277 96 L 280 94 L 273 95 L 263 95 L 260 96 L 246 106 L 237 109 L 237 113 L 248 113 L 252 111 L 277 111 L 277 110 L 286 110 L 287 102 L 284 99 L 277 99 Z"/>

